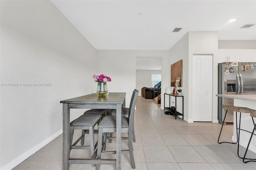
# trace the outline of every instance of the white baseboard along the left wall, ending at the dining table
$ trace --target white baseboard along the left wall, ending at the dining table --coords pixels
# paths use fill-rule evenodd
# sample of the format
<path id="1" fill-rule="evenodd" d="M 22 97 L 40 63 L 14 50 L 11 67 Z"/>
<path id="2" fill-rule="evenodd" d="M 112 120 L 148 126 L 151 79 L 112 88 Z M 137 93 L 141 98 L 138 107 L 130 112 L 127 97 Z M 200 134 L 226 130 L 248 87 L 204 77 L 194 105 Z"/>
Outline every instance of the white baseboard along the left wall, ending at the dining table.
<path id="1" fill-rule="evenodd" d="M 23 162 L 24 160 L 26 160 L 26 158 L 28 158 L 29 156 L 31 156 L 32 154 L 34 154 L 36 151 L 40 150 L 42 147 L 44 147 L 46 144 L 48 144 L 50 141 L 54 140 L 56 137 L 58 137 L 60 134 L 62 134 L 62 129 L 59 130 L 58 132 L 56 132 L 55 134 L 53 134 L 52 136 L 48 137 L 46 140 L 44 140 L 43 142 L 37 144 L 36 146 L 34 146 L 33 148 L 31 148 L 30 150 L 26 151 L 24 154 L 18 156 L 17 158 L 15 158 L 14 160 L 12 160 L 11 162 L 9 162 L 8 164 L 6 164 L 5 166 L 3 166 L 2 168 L 0 167 L 1 170 L 11 170 L 12 168 L 14 168 L 15 166 L 17 166 L 18 164 L 20 164 L 21 162 Z"/>

